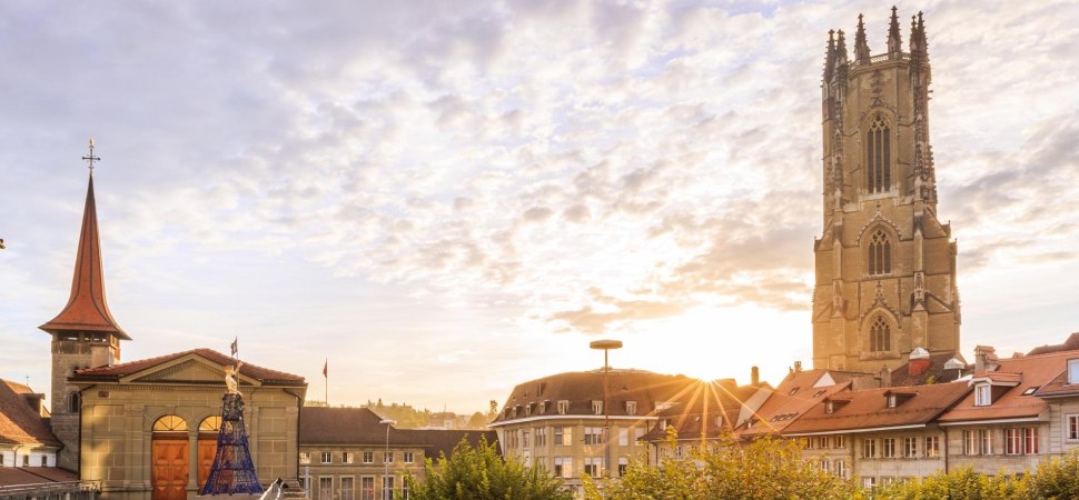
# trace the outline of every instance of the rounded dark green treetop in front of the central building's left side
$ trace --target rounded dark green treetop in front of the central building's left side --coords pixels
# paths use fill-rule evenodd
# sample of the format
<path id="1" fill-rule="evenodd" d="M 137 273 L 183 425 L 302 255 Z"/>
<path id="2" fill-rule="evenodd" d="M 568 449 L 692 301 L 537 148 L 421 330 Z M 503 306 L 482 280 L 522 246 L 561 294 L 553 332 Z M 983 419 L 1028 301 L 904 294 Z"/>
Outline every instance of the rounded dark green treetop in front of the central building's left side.
<path id="1" fill-rule="evenodd" d="M 473 447 L 467 438 L 447 459 L 427 460 L 427 479 L 405 478 L 412 500 L 572 500 L 562 480 L 543 468 L 503 460 L 494 443 L 481 438 Z M 399 497 L 398 497 L 399 498 Z"/>

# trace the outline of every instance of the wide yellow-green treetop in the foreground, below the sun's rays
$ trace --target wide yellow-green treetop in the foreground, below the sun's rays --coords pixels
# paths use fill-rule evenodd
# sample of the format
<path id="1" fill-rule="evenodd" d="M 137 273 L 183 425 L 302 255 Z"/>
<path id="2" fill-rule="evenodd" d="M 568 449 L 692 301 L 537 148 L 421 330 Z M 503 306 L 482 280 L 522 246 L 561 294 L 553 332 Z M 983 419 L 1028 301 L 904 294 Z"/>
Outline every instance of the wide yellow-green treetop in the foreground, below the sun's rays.
<path id="1" fill-rule="evenodd" d="M 672 428 L 673 431 L 673 428 Z M 667 436 L 670 447 L 676 436 Z M 742 443 L 731 437 L 700 443 L 681 457 L 667 456 L 657 467 L 635 458 L 621 479 L 601 491 L 585 481 L 590 500 L 706 500 L 706 499 L 858 499 L 853 481 L 822 471 L 802 458 L 793 441 L 771 438 Z"/>

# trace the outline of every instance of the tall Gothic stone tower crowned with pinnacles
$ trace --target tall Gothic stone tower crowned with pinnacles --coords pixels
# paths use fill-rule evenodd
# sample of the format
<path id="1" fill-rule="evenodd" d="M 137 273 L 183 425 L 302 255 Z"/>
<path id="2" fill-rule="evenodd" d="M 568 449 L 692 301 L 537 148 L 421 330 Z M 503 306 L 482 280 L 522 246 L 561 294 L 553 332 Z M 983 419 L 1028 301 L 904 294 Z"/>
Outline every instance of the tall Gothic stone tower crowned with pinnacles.
<path id="1" fill-rule="evenodd" d="M 894 7 L 884 53 L 870 54 L 861 16 L 853 59 L 843 32 L 829 33 L 814 368 L 877 372 L 917 348 L 959 350 L 956 243 L 937 216 L 921 13 L 909 50 Z"/>

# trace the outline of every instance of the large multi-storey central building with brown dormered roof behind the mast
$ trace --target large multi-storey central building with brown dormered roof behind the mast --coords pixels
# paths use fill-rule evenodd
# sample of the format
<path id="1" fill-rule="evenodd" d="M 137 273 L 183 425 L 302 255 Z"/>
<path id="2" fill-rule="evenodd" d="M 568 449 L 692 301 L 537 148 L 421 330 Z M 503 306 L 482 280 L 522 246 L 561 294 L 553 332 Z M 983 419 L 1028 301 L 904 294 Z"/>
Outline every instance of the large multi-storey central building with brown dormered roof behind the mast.
<path id="1" fill-rule="evenodd" d="M 600 369 L 517 384 L 491 423 L 503 454 L 544 467 L 570 489 L 578 488 L 585 473 L 603 476 L 607 456 L 610 474 L 621 476 L 631 457 L 646 451 L 637 440 L 656 426 L 657 412 L 706 386 L 685 376 L 612 369 L 604 412 L 603 378 Z M 607 449 L 605 421 L 611 424 Z"/>

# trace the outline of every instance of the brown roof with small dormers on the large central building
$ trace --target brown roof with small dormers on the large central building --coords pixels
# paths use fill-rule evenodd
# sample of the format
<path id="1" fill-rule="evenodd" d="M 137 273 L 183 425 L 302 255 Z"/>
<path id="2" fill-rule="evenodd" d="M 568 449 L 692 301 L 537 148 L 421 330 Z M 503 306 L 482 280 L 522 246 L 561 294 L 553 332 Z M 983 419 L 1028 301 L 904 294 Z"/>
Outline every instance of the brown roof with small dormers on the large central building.
<path id="1" fill-rule="evenodd" d="M 705 383 L 685 376 L 644 370 L 612 369 L 608 377 L 607 414 L 611 417 L 626 417 L 627 401 L 635 401 L 635 416 L 652 414 L 656 402 L 677 401 Z M 566 416 L 594 416 L 592 401 L 603 401 L 603 370 L 558 373 L 521 383 L 513 389 L 492 424 L 528 417 L 563 417 L 557 412 L 558 401 L 570 401 Z M 546 409 L 541 411 L 544 402 Z M 512 411 L 515 408 L 519 409 L 516 416 Z"/>

